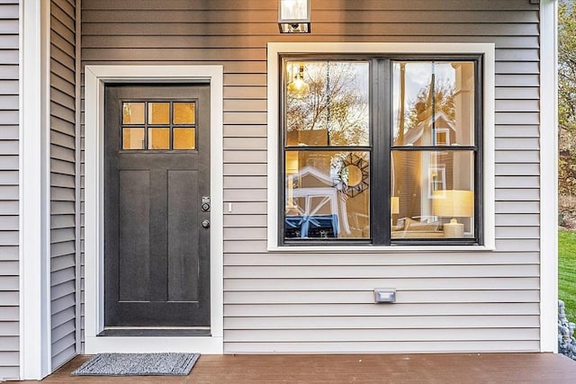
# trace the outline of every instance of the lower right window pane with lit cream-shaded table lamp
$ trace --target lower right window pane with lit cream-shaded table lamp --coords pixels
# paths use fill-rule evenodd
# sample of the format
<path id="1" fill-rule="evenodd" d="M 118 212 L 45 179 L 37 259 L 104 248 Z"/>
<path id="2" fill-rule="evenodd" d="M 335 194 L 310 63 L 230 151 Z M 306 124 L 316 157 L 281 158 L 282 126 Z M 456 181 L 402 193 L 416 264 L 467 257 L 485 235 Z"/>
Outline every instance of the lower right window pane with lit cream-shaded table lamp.
<path id="1" fill-rule="evenodd" d="M 473 151 L 392 151 L 392 238 L 473 237 L 473 169 Z"/>

